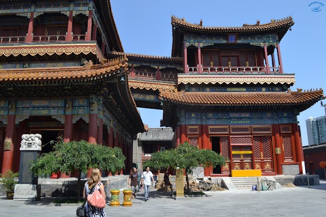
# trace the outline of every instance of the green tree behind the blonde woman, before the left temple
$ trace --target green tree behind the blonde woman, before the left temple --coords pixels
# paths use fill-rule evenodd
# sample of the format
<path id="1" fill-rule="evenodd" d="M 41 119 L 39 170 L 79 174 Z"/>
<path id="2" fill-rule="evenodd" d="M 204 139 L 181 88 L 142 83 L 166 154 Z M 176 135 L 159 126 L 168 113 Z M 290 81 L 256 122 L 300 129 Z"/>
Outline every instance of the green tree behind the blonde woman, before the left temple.
<path id="1" fill-rule="evenodd" d="M 77 201 L 80 197 L 80 179 L 82 172 L 87 173 L 90 168 L 108 170 L 113 174 L 124 168 L 125 157 L 119 147 L 106 147 L 92 144 L 85 140 L 59 142 L 54 144 L 53 151 L 44 153 L 31 166 L 31 171 L 36 176 L 46 176 L 59 171 L 68 174 L 78 171 Z"/>

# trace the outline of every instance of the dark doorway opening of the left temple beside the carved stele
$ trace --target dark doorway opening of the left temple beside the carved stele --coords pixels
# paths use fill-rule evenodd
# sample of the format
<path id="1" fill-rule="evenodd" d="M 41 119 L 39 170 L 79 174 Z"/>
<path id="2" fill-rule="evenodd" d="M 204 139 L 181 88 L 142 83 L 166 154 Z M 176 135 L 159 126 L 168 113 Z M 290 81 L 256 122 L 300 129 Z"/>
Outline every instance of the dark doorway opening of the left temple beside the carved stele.
<path id="1" fill-rule="evenodd" d="M 42 150 L 41 153 L 48 153 L 53 150 L 55 144 L 51 144 L 50 141 L 58 141 L 58 137 L 63 135 L 63 130 L 31 130 L 31 134 L 42 135 Z"/>

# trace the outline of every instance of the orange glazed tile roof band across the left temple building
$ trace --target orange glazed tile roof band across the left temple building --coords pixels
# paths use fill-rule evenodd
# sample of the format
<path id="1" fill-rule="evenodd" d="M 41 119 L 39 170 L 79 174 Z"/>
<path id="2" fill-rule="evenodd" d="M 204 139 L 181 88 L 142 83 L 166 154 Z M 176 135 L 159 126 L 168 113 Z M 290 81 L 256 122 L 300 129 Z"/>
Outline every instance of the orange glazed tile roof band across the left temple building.
<path id="1" fill-rule="evenodd" d="M 82 67 L 2 69 L 0 70 L 0 81 L 86 79 L 111 74 L 126 66 L 127 59 L 123 58 L 112 60 L 111 63 Z"/>

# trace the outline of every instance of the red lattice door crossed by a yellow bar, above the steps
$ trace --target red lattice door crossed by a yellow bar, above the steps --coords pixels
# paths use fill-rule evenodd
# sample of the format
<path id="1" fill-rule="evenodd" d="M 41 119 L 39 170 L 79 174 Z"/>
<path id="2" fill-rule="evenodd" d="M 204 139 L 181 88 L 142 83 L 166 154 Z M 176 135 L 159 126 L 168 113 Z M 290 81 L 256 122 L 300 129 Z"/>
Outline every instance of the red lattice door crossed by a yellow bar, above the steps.
<path id="1" fill-rule="evenodd" d="M 233 170 L 253 169 L 253 151 L 251 136 L 231 136 Z"/>

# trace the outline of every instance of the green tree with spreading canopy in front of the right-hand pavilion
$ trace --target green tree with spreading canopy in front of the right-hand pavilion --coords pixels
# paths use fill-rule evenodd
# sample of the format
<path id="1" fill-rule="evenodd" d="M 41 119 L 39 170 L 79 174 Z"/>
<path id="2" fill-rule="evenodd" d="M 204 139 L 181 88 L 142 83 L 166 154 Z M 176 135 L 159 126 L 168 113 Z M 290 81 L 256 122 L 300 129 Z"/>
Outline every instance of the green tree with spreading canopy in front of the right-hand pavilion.
<path id="1" fill-rule="evenodd" d="M 204 168 L 223 166 L 226 163 L 226 158 L 210 149 L 198 149 L 188 142 L 178 145 L 175 149 L 156 151 L 152 154 L 152 159 L 144 162 L 144 166 L 149 166 L 154 169 L 184 168 L 187 182 L 187 192 L 189 192 L 189 177 L 188 174 L 193 173 L 193 169 L 198 166 Z"/>

